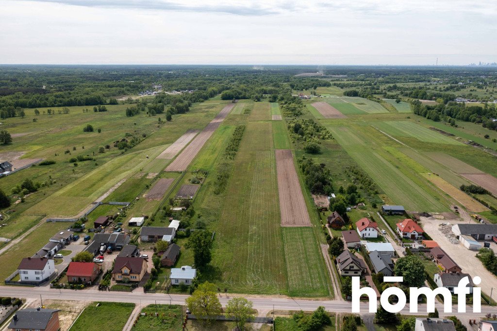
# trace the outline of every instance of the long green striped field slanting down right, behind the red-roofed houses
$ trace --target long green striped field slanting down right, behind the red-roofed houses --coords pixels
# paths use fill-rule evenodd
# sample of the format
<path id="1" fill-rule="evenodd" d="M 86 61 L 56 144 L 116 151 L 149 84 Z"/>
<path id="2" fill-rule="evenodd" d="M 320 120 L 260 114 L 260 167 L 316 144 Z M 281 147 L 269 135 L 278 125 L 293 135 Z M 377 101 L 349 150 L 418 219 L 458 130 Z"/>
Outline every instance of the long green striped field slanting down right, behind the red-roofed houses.
<path id="1" fill-rule="evenodd" d="M 395 204 L 413 211 L 446 211 L 435 197 L 371 149 L 365 137 L 345 127 L 329 127 L 333 137 Z M 379 151 L 378 151 L 379 152 Z"/>

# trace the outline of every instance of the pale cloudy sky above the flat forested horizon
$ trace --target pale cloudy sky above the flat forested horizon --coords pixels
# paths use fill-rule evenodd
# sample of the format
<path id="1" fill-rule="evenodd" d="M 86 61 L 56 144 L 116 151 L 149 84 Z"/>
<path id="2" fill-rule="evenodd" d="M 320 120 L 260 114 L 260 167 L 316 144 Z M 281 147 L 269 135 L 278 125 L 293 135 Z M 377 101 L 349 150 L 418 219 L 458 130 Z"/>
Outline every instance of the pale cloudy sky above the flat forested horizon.
<path id="1" fill-rule="evenodd" d="M 496 0 L 0 0 L 0 64 L 497 62 Z"/>

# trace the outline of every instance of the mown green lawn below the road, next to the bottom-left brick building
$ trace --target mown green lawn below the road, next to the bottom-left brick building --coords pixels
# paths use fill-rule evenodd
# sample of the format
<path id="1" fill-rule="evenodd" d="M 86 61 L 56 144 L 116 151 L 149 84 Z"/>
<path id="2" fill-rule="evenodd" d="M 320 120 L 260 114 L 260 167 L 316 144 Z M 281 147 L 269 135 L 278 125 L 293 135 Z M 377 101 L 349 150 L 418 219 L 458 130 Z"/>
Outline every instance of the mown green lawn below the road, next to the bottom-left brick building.
<path id="1" fill-rule="evenodd" d="M 133 303 L 95 302 L 83 310 L 69 330 L 86 331 L 89 326 L 98 325 L 100 330 L 121 331 L 134 308 Z"/>

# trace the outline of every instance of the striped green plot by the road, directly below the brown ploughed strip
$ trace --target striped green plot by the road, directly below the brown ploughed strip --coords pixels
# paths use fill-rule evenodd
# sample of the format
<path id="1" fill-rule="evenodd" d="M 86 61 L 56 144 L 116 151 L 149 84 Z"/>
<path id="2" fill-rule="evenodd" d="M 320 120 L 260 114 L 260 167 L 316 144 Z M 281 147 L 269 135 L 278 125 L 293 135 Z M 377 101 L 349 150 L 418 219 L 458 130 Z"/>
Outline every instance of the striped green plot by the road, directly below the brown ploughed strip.
<path id="1" fill-rule="evenodd" d="M 325 297 L 330 294 L 328 273 L 311 228 L 283 228 L 288 294 Z"/>

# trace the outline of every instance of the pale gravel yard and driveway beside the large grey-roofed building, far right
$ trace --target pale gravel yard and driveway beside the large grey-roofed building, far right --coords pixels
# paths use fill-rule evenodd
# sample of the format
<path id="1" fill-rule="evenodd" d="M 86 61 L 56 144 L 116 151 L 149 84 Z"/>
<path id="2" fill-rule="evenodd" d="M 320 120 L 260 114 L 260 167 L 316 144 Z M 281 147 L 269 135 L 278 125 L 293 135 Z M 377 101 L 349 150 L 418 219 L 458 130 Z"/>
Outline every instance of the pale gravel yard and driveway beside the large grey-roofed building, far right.
<path id="1" fill-rule="evenodd" d="M 467 221 L 462 220 L 436 220 L 434 218 L 421 217 L 423 224 L 423 230 L 438 243 L 440 248 L 445 250 L 452 259 L 459 264 L 462 268 L 463 273 L 469 273 L 471 277 L 480 276 L 482 278 L 482 283 L 479 285 L 482 291 L 487 295 L 490 295 L 491 288 L 494 288 L 494 292 L 497 289 L 497 278 L 494 274 L 488 271 L 483 263 L 476 257 L 476 250 L 469 250 L 465 248 L 462 244 L 451 244 L 447 237 L 445 237 L 439 230 L 438 225 L 440 223 L 450 223 L 455 224 L 468 224 Z M 495 245 L 492 248 L 497 249 Z M 494 300 L 496 296 L 494 294 Z"/>

